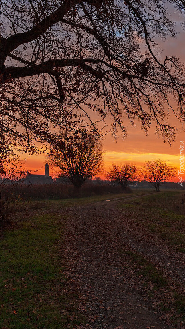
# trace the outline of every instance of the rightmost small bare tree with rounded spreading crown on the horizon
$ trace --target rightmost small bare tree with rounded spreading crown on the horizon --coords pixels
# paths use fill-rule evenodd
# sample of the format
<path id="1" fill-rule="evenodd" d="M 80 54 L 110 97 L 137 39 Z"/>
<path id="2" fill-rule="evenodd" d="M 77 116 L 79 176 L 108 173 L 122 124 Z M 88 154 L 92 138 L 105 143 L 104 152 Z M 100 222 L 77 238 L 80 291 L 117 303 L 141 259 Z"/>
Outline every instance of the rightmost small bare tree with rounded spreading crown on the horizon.
<path id="1" fill-rule="evenodd" d="M 168 164 L 168 161 L 161 159 L 146 161 L 141 172 L 143 178 L 153 184 L 156 192 L 159 192 L 159 186 L 162 182 L 176 174 L 176 170 Z"/>

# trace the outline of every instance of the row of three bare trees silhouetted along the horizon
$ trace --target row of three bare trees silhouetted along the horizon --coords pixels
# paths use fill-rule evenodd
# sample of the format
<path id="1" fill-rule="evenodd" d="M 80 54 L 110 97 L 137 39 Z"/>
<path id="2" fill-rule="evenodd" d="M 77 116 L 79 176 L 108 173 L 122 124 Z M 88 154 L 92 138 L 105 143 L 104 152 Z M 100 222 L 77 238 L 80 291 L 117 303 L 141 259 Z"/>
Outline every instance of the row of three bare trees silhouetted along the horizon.
<path id="1" fill-rule="evenodd" d="M 161 182 L 173 178 L 176 170 L 161 159 L 146 161 L 138 170 L 135 164 L 112 164 L 107 172 L 104 169 L 102 143 L 96 135 L 89 134 L 74 139 L 66 130 L 50 148 L 47 161 L 59 177 L 66 177 L 75 189 L 98 174 L 108 180 L 119 183 L 122 190 L 132 181 L 145 179 L 153 184 L 156 192 Z"/>

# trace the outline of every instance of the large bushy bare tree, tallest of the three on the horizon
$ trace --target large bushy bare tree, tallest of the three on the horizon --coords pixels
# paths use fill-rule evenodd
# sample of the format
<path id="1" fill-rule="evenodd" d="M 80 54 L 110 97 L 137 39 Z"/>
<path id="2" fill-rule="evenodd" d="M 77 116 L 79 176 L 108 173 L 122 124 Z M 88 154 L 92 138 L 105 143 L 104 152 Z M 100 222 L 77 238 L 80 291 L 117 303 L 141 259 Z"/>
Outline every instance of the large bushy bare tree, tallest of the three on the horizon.
<path id="1" fill-rule="evenodd" d="M 57 147 L 51 149 L 48 162 L 58 168 L 60 176 L 68 177 L 73 186 L 79 189 L 88 179 L 103 170 L 102 144 L 96 136 L 82 136 L 78 140 L 66 130 L 61 132 Z"/>

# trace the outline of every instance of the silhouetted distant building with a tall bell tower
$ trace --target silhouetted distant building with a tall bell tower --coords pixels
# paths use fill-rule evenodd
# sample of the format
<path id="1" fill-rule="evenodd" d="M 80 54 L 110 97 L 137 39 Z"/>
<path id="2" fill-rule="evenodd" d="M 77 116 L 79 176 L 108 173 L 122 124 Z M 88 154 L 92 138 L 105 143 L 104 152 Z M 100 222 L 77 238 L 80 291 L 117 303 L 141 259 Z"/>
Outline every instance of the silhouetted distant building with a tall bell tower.
<path id="1" fill-rule="evenodd" d="M 24 179 L 24 184 L 34 185 L 34 184 L 52 184 L 54 181 L 51 176 L 49 176 L 49 164 L 46 162 L 44 175 L 32 175 L 29 174 L 28 170 L 26 173 L 26 178 Z"/>

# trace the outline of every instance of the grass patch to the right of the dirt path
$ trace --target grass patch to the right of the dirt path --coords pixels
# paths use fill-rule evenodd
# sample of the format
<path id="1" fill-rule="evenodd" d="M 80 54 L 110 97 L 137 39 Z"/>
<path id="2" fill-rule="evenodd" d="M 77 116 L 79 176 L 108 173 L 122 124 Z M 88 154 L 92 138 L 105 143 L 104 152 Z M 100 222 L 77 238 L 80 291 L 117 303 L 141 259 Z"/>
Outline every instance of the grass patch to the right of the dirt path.
<path id="1" fill-rule="evenodd" d="M 124 200 L 119 209 L 144 230 L 156 234 L 175 250 L 185 249 L 185 216 L 174 210 L 182 192 L 162 192 Z"/>

